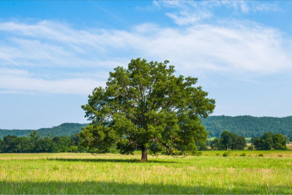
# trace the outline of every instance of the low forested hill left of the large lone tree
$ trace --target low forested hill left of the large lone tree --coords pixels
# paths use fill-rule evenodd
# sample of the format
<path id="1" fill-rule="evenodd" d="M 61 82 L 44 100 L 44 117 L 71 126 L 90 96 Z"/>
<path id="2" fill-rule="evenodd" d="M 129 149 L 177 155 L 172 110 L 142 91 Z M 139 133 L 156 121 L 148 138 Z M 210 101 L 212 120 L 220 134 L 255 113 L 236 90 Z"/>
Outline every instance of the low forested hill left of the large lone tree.
<path id="1" fill-rule="evenodd" d="M 63 123 L 59 126 L 54 126 L 52 128 L 41 128 L 36 130 L 39 132 L 41 137 L 46 137 L 50 134 L 52 137 L 55 136 L 70 136 L 74 133 L 80 132 L 82 127 L 87 126 L 88 124 L 79 124 L 79 123 Z M 0 129 L 0 138 L 3 139 L 5 135 L 16 135 L 17 137 L 28 137 L 30 132 L 34 130 L 4 130 Z"/>

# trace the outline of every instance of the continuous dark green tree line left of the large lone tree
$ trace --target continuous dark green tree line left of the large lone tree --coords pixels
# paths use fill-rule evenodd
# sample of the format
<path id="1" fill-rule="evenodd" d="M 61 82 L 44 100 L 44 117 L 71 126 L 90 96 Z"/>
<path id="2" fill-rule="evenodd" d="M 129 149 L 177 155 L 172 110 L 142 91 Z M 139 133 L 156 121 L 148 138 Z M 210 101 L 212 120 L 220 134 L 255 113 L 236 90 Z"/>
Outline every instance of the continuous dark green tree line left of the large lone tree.
<path id="1" fill-rule="evenodd" d="M 59 153 L 59 152 L 87 152 L 81 144 L 80 133 L 69 136 L 47 135 L 41 138 L 36 131 L 30 132 L 29 137 L 6 135 L 0 139 L 1 153 Z"/>

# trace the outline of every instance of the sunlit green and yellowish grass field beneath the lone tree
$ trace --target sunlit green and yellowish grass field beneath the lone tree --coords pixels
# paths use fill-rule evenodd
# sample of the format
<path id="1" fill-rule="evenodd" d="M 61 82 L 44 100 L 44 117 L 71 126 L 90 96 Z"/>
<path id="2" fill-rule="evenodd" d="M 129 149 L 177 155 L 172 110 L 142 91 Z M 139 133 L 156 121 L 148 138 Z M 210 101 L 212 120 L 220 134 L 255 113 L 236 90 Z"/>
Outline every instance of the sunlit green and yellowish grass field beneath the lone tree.
<path id="1" fill-rule="evenodd" d="M 292 151 L 224 152 L 148 163 L 139 154 L 0 154 L 0 193 L 292 194 Z"/>

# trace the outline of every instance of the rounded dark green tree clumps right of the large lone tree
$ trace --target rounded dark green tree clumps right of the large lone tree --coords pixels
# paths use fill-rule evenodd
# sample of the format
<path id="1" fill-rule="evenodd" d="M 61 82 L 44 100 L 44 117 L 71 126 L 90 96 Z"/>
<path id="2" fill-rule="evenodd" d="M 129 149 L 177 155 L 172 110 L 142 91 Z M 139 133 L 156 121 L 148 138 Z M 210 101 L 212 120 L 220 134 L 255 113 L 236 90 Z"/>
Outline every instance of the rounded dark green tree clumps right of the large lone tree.
<path id="1" fill-rule="evenodd" d="M 243 136 L 238 136 L 235 133 L 229 131 L 223 131 L 220 138 L 215 138 L 212 141 L 207 142 L 206 145 L 210 146 L 212 150 L 244 150 L 246 140 Z M 281 133 L 273 134 L 272 132 L 265 132 L 261 137 L 251 138 L 251 146 L 249 150 L 287 150 L 286 144 L 289 143 L 287 136 Z M 198 149 L 204 149 L 206 147 L 201 144 L 197 144 Z"/>

